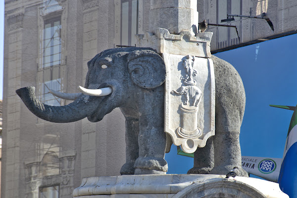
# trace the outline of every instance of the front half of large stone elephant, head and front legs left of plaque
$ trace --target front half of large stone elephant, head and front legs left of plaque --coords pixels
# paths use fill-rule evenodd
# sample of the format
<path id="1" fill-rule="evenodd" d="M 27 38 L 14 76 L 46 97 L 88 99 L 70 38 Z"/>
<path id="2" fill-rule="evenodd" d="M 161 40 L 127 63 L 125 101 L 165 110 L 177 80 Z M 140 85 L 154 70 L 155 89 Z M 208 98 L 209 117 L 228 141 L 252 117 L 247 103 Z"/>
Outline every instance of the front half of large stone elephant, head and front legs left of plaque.
<path id="1" fill-rule="evenodd" d="M 35 96 L 34 87 L 16 91 L 36 116 L 50 122 L 74 122 L 87 117 L 100 121 L 120 107 L 126 118 L 126 163 L 121 174 L 164 174 L 163 59 L 149 48 L 107 49 L 88 62 L 82 94 L 55 96 L 75 99 L 65 106 L 49 106 Z M 66 96 L 65 96 L 66 95 Z"/>

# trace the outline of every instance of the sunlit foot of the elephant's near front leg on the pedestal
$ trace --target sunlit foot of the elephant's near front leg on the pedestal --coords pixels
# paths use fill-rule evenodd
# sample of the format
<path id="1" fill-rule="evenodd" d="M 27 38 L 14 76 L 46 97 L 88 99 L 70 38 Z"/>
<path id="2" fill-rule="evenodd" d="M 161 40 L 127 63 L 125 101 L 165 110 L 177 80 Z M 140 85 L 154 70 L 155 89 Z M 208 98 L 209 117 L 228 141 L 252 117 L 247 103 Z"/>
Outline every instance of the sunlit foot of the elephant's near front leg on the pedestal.
<path id="1" fill-rule="evenodd" d="M 166 174 L 167 162 L 160 157 L 138 157 L 134 164 L 134 174 Z"/>

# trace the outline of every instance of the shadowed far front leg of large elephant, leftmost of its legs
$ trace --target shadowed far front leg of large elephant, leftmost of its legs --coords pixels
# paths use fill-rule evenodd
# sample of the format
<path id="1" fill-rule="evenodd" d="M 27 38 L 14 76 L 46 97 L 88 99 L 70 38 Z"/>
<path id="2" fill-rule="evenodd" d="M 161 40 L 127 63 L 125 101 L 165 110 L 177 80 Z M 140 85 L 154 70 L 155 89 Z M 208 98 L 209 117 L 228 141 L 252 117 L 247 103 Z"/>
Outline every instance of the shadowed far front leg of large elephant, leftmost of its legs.
<path id="1" fill-rule="evenodd" d="M 130 119 L 126 117 L 126 163 L 122 166 L 121 175 L 133 175 L 134 163 L 138 158 L 138 119 Z"/>

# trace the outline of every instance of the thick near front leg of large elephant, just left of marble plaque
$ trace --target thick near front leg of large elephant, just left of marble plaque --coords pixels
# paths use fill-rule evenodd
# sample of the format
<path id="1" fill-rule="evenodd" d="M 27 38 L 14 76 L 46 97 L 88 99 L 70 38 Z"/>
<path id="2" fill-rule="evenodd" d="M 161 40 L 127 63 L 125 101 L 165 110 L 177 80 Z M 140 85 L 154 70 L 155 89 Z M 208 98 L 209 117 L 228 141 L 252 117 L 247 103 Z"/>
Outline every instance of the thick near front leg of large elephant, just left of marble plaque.
<path id="1" fill-rule="evenodd" d="M 164 95 L 158 89 L 146 93 L 140 103 L 139 157 L 135 161 L 135 174 L 166 174 L 166 134 L 164 133 Z"/>

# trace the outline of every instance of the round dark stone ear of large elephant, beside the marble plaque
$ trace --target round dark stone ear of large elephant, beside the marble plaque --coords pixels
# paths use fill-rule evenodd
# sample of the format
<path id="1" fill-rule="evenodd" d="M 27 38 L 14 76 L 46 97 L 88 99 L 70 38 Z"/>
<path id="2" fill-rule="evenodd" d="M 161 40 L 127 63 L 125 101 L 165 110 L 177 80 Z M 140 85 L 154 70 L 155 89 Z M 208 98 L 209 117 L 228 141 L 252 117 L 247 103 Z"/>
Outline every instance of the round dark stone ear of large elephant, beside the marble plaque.
<path id="1" fill-rule="evenodd" d="M 128 72 L 133 83 L 142 88 L 156 88 L 166 77 L 162 57 L 152 50 L 135 50 L 128 54 Z"/>

